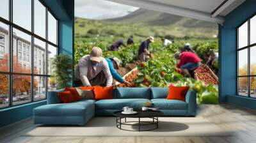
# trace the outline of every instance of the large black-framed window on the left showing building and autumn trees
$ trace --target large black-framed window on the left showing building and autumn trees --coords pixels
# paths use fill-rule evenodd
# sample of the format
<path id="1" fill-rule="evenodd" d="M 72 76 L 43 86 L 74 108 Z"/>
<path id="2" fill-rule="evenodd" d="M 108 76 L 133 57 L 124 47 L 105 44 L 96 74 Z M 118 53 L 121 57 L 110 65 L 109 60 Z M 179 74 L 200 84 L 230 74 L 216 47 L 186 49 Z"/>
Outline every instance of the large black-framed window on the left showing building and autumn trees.
<path id="1" fill-rule="evenodd" d="M 55 89 L 58 20 L 40 0 L 0 1 L 0 109 L 45 100 Z"/>

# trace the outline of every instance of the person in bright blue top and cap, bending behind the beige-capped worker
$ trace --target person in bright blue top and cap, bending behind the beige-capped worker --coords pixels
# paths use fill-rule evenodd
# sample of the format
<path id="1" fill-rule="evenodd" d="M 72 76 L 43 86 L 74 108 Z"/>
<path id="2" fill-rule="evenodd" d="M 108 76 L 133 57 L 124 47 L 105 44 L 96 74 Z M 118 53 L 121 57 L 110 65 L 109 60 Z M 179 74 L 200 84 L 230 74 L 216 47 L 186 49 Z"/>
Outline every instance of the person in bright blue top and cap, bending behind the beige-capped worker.
<path id="1" fill-rule="evenodd" d="M 129 82 L 125 81 L 121 77 L 121 75 L 119 75 L 119 73 L 116 72 L 116 70 L 119 69 L 119 66 L 121 64 L 120 60 L 117 57 L 111 57 L 107 58 L 106 61 L 108 62 L 109 70 L 111 72 L 112 77 L 122 84 L 129 84 Z"/>

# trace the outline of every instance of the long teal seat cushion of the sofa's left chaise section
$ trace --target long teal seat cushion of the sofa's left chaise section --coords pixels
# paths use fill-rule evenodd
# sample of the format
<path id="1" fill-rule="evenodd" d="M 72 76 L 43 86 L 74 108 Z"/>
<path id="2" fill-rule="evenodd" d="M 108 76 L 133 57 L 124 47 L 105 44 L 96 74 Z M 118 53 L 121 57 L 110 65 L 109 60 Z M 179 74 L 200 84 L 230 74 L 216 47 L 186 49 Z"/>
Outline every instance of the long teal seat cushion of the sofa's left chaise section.
<path id="1" fill-rule="evenodd" d="M 84 116 L 86 110 L 94 111 L 93 102 L 48 104 L 36 107 L 34 116 Z"/>

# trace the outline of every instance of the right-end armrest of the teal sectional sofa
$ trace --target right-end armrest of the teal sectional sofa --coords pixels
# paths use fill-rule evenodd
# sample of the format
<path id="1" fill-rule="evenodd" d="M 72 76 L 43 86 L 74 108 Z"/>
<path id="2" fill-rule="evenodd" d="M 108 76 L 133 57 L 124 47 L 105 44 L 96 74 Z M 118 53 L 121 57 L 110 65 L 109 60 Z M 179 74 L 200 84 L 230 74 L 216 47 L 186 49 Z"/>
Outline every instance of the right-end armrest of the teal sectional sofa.
<path id="1" fill-rule="evenodd" d="M 186 103 L 188 103 L 188 116 L 196 115 L 196 92 L 188 91 L 186 94 Z"/>

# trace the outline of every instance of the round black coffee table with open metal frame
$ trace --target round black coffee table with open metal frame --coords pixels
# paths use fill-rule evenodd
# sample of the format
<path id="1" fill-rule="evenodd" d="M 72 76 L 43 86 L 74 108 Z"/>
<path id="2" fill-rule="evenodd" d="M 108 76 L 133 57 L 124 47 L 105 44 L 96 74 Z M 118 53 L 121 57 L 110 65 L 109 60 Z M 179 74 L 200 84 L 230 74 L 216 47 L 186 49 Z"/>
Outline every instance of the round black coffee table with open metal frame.
<path id="1" fill-rule="evenodd" d="M 163 116 L 163 112 L 159 110 L 146 110 L 146 111 L 136 111 L 138 112 L 137 114 L 122 114 L 121 111 L 116 111 L 114 112 L 114 116 L 116 116 L 116 127 L 119 128 L 120 130 L 126 130 L 122 128 L 122 125 L 130 125 L 130 126 L 138 126 L 139 130 L 127 130 L 127 131 L 150 131 L 150 130 L 155 130 L 158 128 L 158 123 L 159 123 L 159 116 Z M 138 118 L 138 121 L 126 121 L 126 118 Z M 141 118 L 151 118 L 152 121 L 141 121 Z M 122 119 L 125 119 L 124 122 L 122 122 Z M 132 124 L 132 123 L 138 123 L 138 124 Z M 152 126 L 154 125 L 153 128 L 143 130 L 141 129 L 141 126 Z"/>

